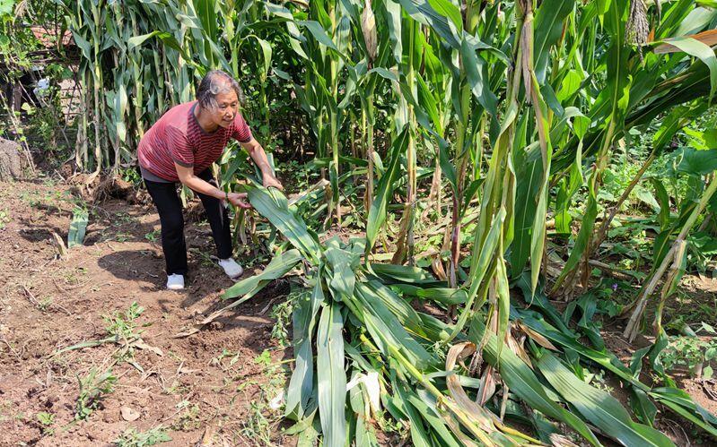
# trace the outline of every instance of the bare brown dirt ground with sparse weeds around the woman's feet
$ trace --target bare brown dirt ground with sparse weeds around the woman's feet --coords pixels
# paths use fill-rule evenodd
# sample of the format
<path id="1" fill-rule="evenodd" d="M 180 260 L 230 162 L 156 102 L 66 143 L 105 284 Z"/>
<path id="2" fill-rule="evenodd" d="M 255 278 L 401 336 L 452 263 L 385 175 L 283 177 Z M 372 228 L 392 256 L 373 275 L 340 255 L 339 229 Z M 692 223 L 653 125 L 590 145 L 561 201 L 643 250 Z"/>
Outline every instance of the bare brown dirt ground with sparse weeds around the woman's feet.
<path id="1" fill-rule="evenodd" d="M 221 292 L 232 285 L 208 262 L 214 252 L 208 226 L 188 224 L 188 289 L 170 292 L 163 289 L 159 220 L 147 205 L 114 201 L 92 208 L 84 245 L 57 259 L 52 232 L 66 240 L 77 200 L 51 181 L 0 183 L 0 445 L 109 445 L 122 436 L 169 436 L 162 445 L 187 446 L 212 434 L 213 445 L 269 437 L 283 443 L 276 434 L 280 415 L 268 406 L 284 384 L 279 362 L 291 354 L 271 336 L 269 315 L 282 290 L 175 339 L 197 315 L 221 306 Z M 133 303 L 144 311 L 138 314 Z M 144 344 L 104 343 L 52 356 L 112 331 L 125 331 L 130 340 L 141 332 Z M 100 380 L 110 367 L 113 384 L 112 377 Z M 93 401 L 92 392 L 101 389 L 101 400 Z M 82 408 L 88 415 L 77 420 Z"/>

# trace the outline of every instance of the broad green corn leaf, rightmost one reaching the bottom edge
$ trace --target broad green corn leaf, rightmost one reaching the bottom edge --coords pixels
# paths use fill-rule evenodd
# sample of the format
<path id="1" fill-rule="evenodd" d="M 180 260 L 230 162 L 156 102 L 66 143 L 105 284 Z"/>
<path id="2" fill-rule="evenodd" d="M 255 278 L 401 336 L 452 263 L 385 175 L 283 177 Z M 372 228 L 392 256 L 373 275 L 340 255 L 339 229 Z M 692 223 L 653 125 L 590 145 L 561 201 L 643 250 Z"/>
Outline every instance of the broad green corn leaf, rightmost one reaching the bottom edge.
<path id="1" fill-rule="evenodd" d="M 560 361 L 545 352 L 538 360 L 538 368 L 565 401 L 609 437 L 625 446 L 674 446 L 667 436 L 650 426 L 634 422 L 627 410 L 606 391 L 582 382 Z"/>

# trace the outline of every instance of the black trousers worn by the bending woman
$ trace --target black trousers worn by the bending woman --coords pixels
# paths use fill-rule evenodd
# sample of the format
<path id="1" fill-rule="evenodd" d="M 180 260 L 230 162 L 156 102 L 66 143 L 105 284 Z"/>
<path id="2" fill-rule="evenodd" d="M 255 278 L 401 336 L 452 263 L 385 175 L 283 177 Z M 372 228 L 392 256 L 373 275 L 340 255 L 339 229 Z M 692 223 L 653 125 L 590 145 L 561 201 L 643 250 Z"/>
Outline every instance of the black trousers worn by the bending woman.
<path id="1" fill-rule="evenodd" d="M 216 185 L 209 168 L 199 175 L 202 180 Z M 162 251 L 167 262 L 167 274 L 187 274 L 187 244 L 184 241 L 184 217 L 182 202 L 177 193 L 176 183 L 159 183 L 144 179 L 147 192 L 152 197 L 162 224 Z M 232 256 L 232 232 L 229 214 L 222 201 L 212 196 L 197 193 L 206 211 L 206 218 L 212 228 L 216 255 L 219 259 Z"/>

